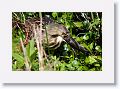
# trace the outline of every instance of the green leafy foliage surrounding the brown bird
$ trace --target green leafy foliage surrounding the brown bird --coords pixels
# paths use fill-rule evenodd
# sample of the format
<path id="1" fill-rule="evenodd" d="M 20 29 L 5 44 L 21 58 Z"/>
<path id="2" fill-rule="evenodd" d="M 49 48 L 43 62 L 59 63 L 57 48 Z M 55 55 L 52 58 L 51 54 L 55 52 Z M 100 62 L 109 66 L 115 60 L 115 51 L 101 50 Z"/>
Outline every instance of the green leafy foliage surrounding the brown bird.
<path id="1" fill-rule="evenodd" d="M 101 71 L 102 70 L 102 13 L 101 12 L 43 12 L 42 16 L 49 16 L 55 22 L 63 24 L 71 36 L 90 55 L 73 50 L 65 42 L 47 54 L 45 70 L 54 71 Z M 39 12 L 14 12 L 13 19 L 22 23 L 28 18 L 39 17 Z M 12 69 L 25 70 L 24 56 L 20 48 L 20 37 L 24 40 L 22 28 L 12 29 Z M 34 39 L 26 45 L 27 57 L 32 71 L 39 70 L 37 48 Z"/>

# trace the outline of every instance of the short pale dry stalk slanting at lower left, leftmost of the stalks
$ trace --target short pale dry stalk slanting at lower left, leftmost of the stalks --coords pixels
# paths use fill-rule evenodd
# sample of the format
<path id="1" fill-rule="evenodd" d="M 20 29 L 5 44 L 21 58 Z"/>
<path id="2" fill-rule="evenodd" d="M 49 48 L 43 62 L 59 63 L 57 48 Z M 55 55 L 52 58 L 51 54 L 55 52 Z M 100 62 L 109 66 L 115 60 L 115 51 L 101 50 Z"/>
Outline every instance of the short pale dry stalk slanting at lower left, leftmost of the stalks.
<path id="1" fill-rule="evenodd" d="M 27 57 L 27 53 L 26 53 L 26 49 L 25 49 L 25 47 L 24 47 L 24 45 L 23 45 L 23 41 L 22 41 L 22 38 L 20 38 L 20 42 L 21 42 L 21 46 L 22 46 L 22 50 L 23 50 L 23 54 L 24 54 L 24 61 L 25 61 L 25 67 L 26 67 L 26 71 L 30 71 L 31 70 L 31 68 L 30 68 L 30 65 L 29 65 L 29 63 L 28 63 L 28 57 Z"/>

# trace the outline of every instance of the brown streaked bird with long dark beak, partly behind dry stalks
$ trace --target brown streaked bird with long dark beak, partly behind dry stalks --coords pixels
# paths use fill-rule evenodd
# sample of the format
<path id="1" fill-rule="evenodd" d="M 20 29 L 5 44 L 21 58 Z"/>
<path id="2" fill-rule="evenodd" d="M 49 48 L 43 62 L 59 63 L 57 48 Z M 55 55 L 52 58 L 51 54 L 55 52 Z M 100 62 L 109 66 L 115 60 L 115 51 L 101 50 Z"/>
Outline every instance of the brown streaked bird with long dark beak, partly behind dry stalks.
<path id="1" fill-rule="evenodd" d="M 24 43 L 27 44 L 28 40 L 34 37 L 33 25 L 39 27 L 40 18 L 30 18 L 26 20 L 24 24 L 18 22 L 19 21 L 17 21 L 17 24 L 21 25 L 26 33 L 26 39 Z M 48 46 L 49 48 L 57 49 L 61 46 L 62 42 L 66 42 L 74 50 L 78 50 L 85 55 L 89 55 L 89 51 L 72 38 L 69 30 L 63 24 L 56 23 L 47 16 L 42 18 L 42 24 L 44 28 L 42 30 L 42 45 L 44 47 Z"/>

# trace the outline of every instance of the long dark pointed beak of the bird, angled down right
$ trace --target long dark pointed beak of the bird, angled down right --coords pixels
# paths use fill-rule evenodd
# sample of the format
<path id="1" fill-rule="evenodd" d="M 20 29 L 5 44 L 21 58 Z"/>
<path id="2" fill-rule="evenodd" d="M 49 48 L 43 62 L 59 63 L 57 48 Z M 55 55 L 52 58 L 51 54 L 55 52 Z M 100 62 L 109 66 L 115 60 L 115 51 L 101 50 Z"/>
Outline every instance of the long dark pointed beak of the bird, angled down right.
<path id="1" fill-rule="evenodd" d="M 75 50 L 81 51 L 88 55 L 88 50 L 86 50 L 83 46 L 81 46 L 77 41 L 75 41 L 72 37 L 66 37 L 64 40 Z"/>

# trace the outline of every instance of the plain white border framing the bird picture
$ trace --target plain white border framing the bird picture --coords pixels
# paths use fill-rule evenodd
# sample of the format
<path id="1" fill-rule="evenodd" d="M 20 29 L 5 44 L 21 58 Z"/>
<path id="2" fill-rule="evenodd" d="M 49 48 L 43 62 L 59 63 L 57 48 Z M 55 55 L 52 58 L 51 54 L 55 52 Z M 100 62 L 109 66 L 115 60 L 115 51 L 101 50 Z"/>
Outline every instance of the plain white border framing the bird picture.
<path id="1" fill-rule="evenodd" d="M 11 12 L 15 11 L 102 12 L 103 71 L 12 71 Z M 112 0 L 4 0 L 0 3 L 0 12 L 0 82 L 114 83 L 114 4 Z"/>

